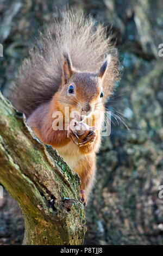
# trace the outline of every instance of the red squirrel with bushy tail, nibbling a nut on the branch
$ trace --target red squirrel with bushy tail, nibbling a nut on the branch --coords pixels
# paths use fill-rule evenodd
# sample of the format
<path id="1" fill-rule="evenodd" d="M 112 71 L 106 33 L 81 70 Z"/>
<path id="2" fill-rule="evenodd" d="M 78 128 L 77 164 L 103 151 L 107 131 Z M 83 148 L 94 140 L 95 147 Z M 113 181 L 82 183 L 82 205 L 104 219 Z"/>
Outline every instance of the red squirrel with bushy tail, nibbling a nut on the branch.
<path id="1" fill-rule="evenodd" d="M 25 59 L 8 96 L 27 124 L 45 144 L 52 145 L 81 179 L 80 200 L 86 205 L 101 144 L 104 101 L 118 78 L 118 57 L 106 29 L 91 17 L 67 11 L 55 21 Z M 54 112 L 78 114 L 61 130 L 53 129 Z M 83 114 L 84 113 L 84 114 Z M 83 119 L 91 120 L 85 125 Z"/>

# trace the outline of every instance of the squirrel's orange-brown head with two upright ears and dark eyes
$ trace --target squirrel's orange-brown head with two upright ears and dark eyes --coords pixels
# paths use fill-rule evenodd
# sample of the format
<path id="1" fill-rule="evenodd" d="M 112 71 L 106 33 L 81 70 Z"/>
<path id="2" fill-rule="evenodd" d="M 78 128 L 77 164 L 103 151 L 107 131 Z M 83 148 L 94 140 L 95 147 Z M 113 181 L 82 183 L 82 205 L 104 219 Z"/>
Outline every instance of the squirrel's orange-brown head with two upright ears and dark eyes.
<path id="1" fill-rule="evenodd" d="M 70 112 L 91 116 L 96 111 L 103 111 L 102 81 L 108 67 L 109 58 L 105 60 L 96 74 L 80 72 L 73 69 L 71 59 L 64 53 L 62 84 L 58 91 L 60 108 L 70 107 Z M 61 109 L 63 110 L 63 109 Z"/>

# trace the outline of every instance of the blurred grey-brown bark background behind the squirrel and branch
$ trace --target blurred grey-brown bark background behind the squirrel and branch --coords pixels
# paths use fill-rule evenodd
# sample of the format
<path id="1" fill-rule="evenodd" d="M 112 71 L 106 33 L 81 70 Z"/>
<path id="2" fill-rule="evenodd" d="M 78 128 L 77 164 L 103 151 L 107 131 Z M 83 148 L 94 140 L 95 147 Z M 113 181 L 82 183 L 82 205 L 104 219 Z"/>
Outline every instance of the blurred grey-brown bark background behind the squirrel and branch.
<path id="1" fill-rule="evenodd" d="M 111 29 L 123 66 L 108 109 L 122 113 L 130 131 L 113 118 L 111 136 L 97 156 L 96 185 L 86 207 L 86 245 L 163 244 L 163 43 L 161 0 L 0 0 L 0 88 L 5 96 L 28 56 L 38 28 L 48 26 L 56 7 L 92 14 Z M 1 164 L 1 163 L 0 163 Z M 23 219 L 7 192 L 0 199 L 0 244 L 21 244 Z"/>

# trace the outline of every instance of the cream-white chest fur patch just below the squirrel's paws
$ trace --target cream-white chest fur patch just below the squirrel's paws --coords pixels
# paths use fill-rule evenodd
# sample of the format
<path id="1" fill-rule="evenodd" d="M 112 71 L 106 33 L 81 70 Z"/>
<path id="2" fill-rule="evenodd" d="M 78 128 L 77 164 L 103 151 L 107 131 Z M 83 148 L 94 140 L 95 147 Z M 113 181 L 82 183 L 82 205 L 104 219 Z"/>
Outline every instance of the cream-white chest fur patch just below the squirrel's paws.
<path id="1" fill-rule="evenodd" d="M 67 145 L 57 149 L 59 155 L 63 157 L 65 162 L 71 169 L 74 169 L 78 162 L 82 159 L 82 155 L 79 153 L 79 147 L 74 144 L 72 141 L 69 142 Z"/>

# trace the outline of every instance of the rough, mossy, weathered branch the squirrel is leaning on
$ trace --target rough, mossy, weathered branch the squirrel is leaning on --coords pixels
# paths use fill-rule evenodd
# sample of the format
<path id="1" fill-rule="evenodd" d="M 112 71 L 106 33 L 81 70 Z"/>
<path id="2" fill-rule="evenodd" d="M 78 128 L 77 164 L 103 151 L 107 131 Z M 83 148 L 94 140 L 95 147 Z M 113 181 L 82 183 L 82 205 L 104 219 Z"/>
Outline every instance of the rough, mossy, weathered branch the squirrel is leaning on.
<path id="1" fill-rule="evenodd" d="M 0 94 L 0 182 L 18 202 L 24 245 L 81 245 L 86 221 L 80 178 L 42 144 Z"/>

